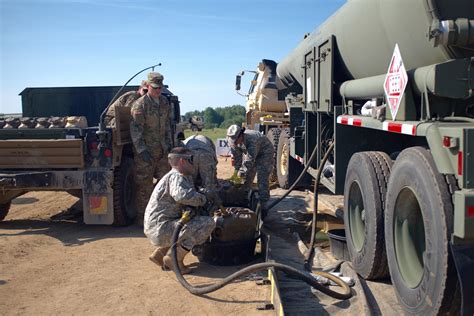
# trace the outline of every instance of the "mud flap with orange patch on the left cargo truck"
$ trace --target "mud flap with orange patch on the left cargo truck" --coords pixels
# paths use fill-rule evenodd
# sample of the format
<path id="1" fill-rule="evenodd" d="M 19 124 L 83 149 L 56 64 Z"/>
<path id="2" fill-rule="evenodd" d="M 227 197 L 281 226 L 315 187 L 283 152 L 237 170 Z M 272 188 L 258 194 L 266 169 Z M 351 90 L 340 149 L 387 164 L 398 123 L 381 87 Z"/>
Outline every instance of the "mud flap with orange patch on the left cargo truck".
<path id="1" fill-rule="evenodd" d="M 111 225 L 114 222 L 113 172 L 84 172 L 84 223 Z"/>

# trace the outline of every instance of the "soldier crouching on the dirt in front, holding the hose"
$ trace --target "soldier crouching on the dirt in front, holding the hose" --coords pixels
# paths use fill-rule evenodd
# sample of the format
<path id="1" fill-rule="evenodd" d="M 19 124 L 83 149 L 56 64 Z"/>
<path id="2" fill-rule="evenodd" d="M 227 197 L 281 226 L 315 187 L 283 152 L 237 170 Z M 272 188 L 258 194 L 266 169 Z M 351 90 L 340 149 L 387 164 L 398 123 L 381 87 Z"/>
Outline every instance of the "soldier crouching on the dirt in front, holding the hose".
<path id="1" fill-rule="evenodd" d="M 165 268 L 172 267 L 171 239 L 184 208 L 197 208 L 212 199 L 197 192 L 192 177 L 189 177 L 194 170 L 191 150 L 176 147 L 171 150 L 168 159 L 172 169 L 153 190 L 145 211 L 144 227 L 145 235 L 157 247 L 150 260 Z M 183 274 L 190 272 L 184 265 L 184 257 L 195 245 L 203 244 L 209 238 L 215 225 L 212 217 L 195 216 L 184 226 L 176 248 Z"/>

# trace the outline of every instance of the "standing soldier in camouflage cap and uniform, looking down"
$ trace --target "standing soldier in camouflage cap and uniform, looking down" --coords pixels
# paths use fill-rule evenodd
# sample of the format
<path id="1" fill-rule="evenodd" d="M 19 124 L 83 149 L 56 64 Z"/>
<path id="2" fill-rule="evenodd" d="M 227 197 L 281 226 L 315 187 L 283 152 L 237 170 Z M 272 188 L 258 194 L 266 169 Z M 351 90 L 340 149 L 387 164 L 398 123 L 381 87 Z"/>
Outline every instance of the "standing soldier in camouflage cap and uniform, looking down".
<path id="1" fill-rule="evenodd" d="M 146 203 L 153 191 L 153 177 L 161 179 L 169 170 L 166 155 L 173 144 L 171 106 L 161 94 L 163 76 L 158 72 L 150 72 L 146 87 L 147 94 L 132 105 L 130 121 L 136 168 L 138 225 L 143 225 Z"/>

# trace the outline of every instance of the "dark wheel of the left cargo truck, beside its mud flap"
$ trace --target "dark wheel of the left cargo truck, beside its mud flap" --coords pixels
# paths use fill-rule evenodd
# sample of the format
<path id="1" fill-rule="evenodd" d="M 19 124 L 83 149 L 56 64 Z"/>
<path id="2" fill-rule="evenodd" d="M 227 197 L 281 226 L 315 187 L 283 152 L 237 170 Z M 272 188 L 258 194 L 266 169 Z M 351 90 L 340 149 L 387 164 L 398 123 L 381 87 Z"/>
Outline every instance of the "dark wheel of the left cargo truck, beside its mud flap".
<path id="1" fill-rule="evenodd" d="M 122 163 L 114 171 L 114 225 L 126 226 L 137 216 L 133 159 L 122 157 Z"/>

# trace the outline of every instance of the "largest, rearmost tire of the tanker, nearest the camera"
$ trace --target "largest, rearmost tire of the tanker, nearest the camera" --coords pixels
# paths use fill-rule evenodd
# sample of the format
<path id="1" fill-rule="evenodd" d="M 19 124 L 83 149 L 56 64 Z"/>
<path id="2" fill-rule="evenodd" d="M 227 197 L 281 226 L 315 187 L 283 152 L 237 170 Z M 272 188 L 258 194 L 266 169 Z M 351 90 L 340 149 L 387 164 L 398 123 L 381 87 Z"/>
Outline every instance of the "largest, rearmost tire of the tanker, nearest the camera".
<path id="1" fill-rule="evenodd" d="M 449 240 L 453 205 L 449 186 L 422 147 L 405 149 L 393 166 L 385 210 L 390 276 L 406 314 L 449 312 L 457 277 Z"/>

